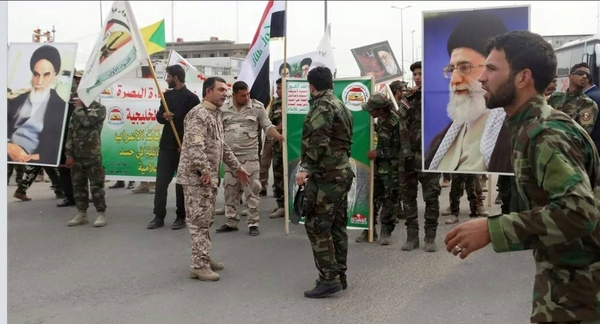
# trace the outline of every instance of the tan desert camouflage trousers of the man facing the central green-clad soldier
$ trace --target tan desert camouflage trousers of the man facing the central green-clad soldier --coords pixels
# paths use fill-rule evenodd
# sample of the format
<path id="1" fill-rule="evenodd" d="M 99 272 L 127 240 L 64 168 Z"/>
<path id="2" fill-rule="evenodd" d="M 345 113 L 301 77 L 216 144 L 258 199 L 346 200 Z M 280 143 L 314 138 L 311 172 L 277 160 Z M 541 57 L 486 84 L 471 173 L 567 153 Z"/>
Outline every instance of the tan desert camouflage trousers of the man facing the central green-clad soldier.
<path id="1" fill-rule="evenodd" d="M 183 186 L 185 222 L 192 242 L 192 269 L 210 269 L 210 233 L 218 187 Z"/>

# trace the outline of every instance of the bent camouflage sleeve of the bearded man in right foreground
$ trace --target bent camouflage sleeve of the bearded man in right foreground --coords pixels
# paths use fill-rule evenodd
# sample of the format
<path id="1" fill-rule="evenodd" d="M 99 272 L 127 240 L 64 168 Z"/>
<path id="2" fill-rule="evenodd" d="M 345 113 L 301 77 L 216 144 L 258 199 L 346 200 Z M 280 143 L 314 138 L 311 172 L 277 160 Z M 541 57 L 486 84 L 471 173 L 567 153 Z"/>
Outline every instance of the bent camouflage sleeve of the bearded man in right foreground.
<path id="1" fill-rule="evenodd" d="M 585 143 L 546 129 L 530 145 L 530 158 L 523 164 L 529 163 L 535 176 L 530 181 L 544 190 L 548 204 L 488 218 L 496 252 L 564 244 L 589 235 L 598 223 L 594 194 L 584 167 L 585 154 L 581 151 L 586 150 Z"/>

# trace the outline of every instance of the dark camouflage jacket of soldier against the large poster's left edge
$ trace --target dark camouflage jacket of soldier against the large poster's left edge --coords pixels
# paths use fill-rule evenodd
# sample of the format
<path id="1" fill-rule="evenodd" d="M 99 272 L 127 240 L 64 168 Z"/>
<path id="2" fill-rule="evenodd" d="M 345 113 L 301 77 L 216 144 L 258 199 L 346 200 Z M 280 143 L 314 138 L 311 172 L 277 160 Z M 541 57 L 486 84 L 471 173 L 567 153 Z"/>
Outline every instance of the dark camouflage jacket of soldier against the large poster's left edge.
<path id="1" fill-rule="evenodd" d="M 400 170 L 405 162 L 414 159 L 416 170 L 421 170 L 421 90 L 407 98 L 409 107 L 398 104 L 400 116 Z"/>

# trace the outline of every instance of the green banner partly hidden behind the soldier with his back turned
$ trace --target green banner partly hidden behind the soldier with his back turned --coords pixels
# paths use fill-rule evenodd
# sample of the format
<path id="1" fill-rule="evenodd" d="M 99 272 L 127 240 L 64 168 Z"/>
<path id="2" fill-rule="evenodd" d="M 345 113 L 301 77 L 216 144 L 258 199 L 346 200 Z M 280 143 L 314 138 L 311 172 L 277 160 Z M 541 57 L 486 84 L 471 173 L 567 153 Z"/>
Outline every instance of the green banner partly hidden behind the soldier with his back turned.
<path id="1" fill-rule="evenodd" d="M 288 215 L 294 212 L 296 172 L 300 163 L 302 124 L 309 110 L 310 91 L 306 79 L 284 79 L 285 143 L 287 155 L 286 200 Z M 370 77 L 334 80 L 334 92 L 352 112 L 354 133 L 352 136 L 351 165 L 356 177 L 348 193 L 348 229 L 368 229 L 371 214 L 371 163 L 367 152 L 372 147 L 373 130 L 371 116 L 362 111 L 360 105 L 366 102 L 373 89 Z M 301 223 L 303 223 L 303 219 Z"/>

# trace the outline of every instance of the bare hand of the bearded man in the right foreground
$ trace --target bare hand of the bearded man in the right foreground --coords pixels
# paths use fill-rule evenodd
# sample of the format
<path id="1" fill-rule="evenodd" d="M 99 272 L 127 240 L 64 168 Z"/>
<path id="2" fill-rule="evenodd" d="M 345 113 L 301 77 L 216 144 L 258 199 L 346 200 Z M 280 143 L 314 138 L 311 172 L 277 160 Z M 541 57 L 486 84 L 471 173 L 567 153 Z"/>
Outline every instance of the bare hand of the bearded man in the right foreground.
<path id="1" fill-rule="evenodd" d="M 454 255 L 460 253 L 461 259 L 491 242 L 487 218 L 474 219 L 456 226 L 448 232 L 444 240 L 446 250 Z"/>

